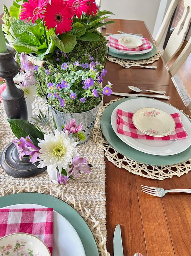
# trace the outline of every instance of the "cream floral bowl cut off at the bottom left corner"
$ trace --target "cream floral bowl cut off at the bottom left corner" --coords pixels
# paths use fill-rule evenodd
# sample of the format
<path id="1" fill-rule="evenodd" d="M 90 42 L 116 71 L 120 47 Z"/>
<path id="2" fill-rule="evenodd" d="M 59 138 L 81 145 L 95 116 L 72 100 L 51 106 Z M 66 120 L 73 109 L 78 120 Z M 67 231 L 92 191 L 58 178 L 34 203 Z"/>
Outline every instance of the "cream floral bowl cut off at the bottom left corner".
<path id="1" fill-rule="evenodd" d="M 48 247 L 41 239 L 27 233 L 14 233 L 2 237 L 0 251 L 2 256 L 51 256 Z"/>

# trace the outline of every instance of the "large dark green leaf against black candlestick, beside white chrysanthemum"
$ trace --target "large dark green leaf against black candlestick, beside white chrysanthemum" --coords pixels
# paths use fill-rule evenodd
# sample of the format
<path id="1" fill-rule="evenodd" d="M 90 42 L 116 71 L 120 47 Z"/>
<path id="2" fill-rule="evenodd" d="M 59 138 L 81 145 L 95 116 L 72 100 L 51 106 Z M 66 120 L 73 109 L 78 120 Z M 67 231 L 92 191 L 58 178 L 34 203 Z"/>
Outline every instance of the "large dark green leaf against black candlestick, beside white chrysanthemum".
<path id="1" fill-rule="evenodd" d="M 30 135 L 30 138 L 35 146 L 38 146 L 39 143 L 37 138 L 44 139 L 43 132 L 39 131 L 27 120 L 8 118 L 7 121 L 11 125 L 12 132 L 18 139 L 21 137 L 26 138 L 26 136 Z"/>

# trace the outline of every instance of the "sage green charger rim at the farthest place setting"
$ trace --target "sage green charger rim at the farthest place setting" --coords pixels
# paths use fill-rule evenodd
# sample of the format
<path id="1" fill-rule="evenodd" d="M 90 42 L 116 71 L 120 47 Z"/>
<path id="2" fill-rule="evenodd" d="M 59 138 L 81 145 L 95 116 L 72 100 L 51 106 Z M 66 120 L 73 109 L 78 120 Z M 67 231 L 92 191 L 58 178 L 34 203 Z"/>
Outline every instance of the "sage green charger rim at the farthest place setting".
<path id="1" fill-rule="evenodd" d="M 121 58 L 121 59 L 126 59 L 126 60 L 143 60 L 143 59 L 148 59 L 153 56 L 155 56 L 157 52 L 156 46 L 153 44 L 153 49 L 144 54 L 125 54 L 125 53 L 119 53 L 118 51 L 115 51 L 111 48 L 109 48 L 109 55 L 116 57 L 116 58 Z"/>

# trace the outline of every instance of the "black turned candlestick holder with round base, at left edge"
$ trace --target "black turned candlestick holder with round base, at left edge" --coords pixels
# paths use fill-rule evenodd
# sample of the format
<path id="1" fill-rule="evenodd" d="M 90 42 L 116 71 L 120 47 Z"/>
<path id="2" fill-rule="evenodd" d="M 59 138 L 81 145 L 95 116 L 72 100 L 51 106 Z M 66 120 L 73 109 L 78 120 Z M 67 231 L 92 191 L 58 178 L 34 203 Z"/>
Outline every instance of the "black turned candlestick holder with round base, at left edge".
<path id="1" fill-rule="evenodd" d="M 6 82 L 6 89 L 2 92 L 5 112 L 8 118 L 27 120 L 27 106 L 23 90 L 16 87 L 13 77 L 19 72 L 19 64 L 14 60 L 16 51 L 8 46 L 7 52 L 0 53 L 0 77 Z M 38 162 L 36 163 L 38 165 Z M 6 173 L 17 178 L 27 178 L 43 172 L 44 168 L 29 162 L 29 156 L 19 160 L 19 153 L 16 146 L 10 143 L 1 154 L 1 167 Z"/>

